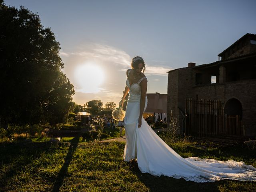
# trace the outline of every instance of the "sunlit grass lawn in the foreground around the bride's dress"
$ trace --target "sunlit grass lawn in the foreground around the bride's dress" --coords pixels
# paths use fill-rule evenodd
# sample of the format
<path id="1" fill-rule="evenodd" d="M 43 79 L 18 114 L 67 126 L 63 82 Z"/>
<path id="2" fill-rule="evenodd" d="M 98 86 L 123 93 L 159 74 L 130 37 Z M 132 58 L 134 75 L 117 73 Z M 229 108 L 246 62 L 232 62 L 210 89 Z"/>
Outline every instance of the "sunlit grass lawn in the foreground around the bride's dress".
<path id="1" fill-rule="evenodd" d="M 0 143 L 0 191 L 255 191 L 256 182 L 222 180 L 195 183 L 142 174 L 138 165 L 124 162 L 125 142 L 79 142 L 58 146 L 48 142 Z M 245 146 L 200 148 L 190 142 L 170 146 L 182 157 L 244 161 L 256 166 L 256 153 Z"/>

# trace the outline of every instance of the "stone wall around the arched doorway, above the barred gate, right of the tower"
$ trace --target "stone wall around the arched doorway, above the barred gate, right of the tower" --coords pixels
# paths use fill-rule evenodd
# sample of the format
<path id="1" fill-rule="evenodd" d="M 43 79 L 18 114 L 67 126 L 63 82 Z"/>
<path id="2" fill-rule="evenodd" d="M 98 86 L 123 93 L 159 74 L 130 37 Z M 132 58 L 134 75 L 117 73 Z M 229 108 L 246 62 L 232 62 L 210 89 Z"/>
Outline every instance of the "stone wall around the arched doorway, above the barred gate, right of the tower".
<path id="1" fill-rule="evenodd" d="M 193 92 L 198 94 L 198 99 L 220 100 L 222 107 L 231 98 L 239 100 L 242 104 L 242 120 L 246 136 L 256 136 L 256 80 L 194 86 Z"/>

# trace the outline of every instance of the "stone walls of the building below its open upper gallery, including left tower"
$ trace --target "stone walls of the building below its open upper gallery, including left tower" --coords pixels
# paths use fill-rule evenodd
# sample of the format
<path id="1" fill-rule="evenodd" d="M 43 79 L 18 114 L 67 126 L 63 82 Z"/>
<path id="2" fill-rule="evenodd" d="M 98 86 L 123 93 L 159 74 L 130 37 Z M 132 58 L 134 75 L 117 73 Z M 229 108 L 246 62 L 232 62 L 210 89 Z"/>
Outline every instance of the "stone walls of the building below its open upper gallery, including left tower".
<path id="1" fill-rule="evenodd" d="M 178 134 L 182 134 L 183 115 L 186 98 L 220 100 L 222 107 L 231 98 L 242 104 L 243 123 L 246 136 L 256 136 L 256 80 L 240 80 L 234 82 L 195 85 L 195 72 L 191 67 L 172 70 L 168 75 L 167 120 L 170 111 L 178 120 Z M 180 108 L 180 109 L 179 109 Z"/>

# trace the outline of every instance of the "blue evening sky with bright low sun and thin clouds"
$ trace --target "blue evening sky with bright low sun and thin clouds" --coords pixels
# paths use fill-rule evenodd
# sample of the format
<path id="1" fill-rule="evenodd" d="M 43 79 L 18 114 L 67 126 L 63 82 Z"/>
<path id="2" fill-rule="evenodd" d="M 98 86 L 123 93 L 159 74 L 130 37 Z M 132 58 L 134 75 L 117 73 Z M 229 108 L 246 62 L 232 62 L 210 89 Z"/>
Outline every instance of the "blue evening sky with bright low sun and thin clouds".
<path id="1" fill-rule="evenodd" d="M 141 56 L 147 93 L 167 94 L 168 71 L 218 60 L 256 34 L 256 0 L 5 0 L 38 13 L 60 42 L 73 101 L 118 106 L 131 60 Z"/>

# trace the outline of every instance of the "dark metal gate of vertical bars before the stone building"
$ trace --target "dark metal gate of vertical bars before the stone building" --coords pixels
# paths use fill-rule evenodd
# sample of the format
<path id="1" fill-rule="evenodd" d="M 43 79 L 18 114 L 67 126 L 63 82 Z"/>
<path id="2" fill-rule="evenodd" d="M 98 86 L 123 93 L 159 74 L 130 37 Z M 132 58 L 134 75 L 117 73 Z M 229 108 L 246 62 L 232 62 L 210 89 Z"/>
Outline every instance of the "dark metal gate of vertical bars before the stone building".
<path id="1" fill-rule="evenodd" d="M 186 98 L 185 114 L 186 136 L 245 135 L 240 116 L 224 114 L 219 100 Z"/>

